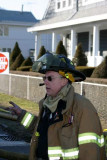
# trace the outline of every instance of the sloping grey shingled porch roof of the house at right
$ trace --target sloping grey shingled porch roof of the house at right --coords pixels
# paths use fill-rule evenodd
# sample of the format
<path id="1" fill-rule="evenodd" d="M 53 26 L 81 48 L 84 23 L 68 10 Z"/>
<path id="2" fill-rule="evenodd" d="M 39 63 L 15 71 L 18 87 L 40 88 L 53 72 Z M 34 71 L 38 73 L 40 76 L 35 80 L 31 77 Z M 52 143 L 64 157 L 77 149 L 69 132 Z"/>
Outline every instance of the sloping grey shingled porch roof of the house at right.
<path id="1" fill-rule="evenodd" d="M 53 7 L 55 8 L 54 5 Z M 36 31 L 36 27 L 38 28 L 38 26 L 53 25 L 56 23 L 61 23 L 62 25 L 62 23 L 69 22 L 72 20 L 74 21 L 81 18 L 99 16 L 104 14 L 107 14 L 107 1 L 103 3 L 100 2 L 99 4 L 98 3 L 92 4 L 85 7 L 81 6 L 79 10 L 76 10 L 76 8 L 74 7 L 74 9 L 55 12 L 55 9 L 52 10 L 52 1 L 50 0 L 50 6 L 47 9 L 47 13 L 44 19 L 36 23 L 33 27 L 35 28 L 35 31 Z M 78 21 L 78 24 L 79 24 L 79 21 Z"/>

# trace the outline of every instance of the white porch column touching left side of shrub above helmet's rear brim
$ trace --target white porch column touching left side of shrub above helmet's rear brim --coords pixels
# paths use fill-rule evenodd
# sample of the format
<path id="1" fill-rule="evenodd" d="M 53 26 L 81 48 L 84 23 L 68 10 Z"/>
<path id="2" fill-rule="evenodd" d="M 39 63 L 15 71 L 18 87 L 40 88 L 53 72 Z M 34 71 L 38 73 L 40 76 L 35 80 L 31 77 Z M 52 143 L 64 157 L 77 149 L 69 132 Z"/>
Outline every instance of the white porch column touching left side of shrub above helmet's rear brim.
<path id="1" fill-rule="evenodd" d="M 71 51 L 69 58 L 72 60 L 75 54 L 76 49 L 76 31 L 74 29 L 71 30 Z"/>

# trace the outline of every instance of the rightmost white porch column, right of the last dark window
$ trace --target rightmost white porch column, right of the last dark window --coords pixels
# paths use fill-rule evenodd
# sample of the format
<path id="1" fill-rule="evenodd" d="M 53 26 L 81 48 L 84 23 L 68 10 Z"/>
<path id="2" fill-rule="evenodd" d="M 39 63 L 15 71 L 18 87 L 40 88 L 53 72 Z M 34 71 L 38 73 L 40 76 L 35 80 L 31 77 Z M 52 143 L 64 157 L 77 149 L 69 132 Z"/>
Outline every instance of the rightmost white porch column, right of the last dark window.
<path id="1" fill-rule="evenodd" d="M 97 25 L 93 26 L 93 59 L 94 66 L 96 66 L 96 57 L 99 55 L 99 27 Z"/>

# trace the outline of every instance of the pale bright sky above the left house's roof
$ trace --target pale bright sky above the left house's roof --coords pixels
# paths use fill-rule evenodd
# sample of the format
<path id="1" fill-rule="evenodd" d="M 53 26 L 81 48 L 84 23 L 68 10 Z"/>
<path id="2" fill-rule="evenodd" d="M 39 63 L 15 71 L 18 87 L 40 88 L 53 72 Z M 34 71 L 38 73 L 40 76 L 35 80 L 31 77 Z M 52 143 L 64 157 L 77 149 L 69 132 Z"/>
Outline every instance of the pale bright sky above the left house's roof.
<path id="1" fill-rule="evenodd" d="M 6 10 L 30 11 L 36 19 L 42 19 L 49 0 L 0 0 L 0 8 Z"/>

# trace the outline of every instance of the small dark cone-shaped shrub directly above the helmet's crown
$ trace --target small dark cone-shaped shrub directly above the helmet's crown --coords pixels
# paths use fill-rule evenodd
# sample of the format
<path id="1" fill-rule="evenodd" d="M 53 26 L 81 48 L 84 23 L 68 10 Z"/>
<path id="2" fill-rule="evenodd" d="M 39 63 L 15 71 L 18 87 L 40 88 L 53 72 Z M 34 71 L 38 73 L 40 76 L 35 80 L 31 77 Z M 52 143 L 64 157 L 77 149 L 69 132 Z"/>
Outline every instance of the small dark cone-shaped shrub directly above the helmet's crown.
<path id="1" fill-rule="evenodd" d="M 57 45 L 56 54 L 64 54 L 67 57 L 67 51 L 66 51 L 62 41 L 59 41 L 59 43 Z"/>

